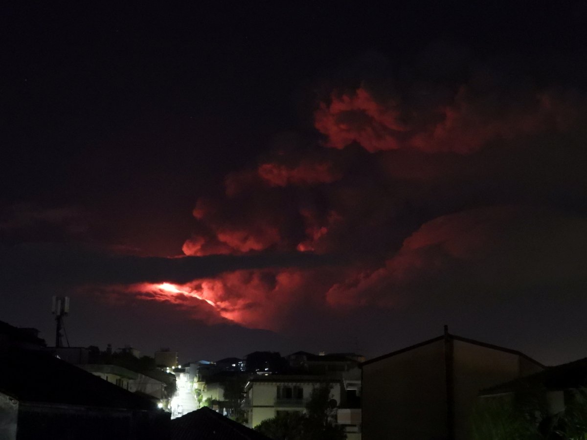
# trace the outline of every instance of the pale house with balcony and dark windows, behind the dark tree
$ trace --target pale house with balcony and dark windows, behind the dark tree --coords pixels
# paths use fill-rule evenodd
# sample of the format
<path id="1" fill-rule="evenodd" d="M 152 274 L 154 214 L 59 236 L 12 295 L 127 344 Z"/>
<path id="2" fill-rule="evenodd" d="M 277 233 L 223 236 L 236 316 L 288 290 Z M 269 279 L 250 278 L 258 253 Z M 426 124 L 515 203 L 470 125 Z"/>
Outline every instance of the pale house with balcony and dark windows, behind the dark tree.
<path id="1" fill-rule="evenodd" d="M 248 426 L 256 427 L 265 419 L 273 418 L 280 411 L 305 411 L 312 390 L 322 385 L 332 385 L 331 398 L 340 404 L 342 384 L 330 382 L 323 376 L 313 375 L 257 375 L 245 386 Z"/>

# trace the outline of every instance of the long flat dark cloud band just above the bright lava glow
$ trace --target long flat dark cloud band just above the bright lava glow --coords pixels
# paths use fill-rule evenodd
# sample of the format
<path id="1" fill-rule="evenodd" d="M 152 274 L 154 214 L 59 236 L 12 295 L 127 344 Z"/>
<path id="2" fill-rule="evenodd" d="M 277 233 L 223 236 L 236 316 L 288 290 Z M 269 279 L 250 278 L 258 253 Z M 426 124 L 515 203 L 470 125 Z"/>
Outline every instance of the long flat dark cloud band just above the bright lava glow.
<path id="1" fill-rule="evenodd" d="M 185 283 L 238 269 L 306 267 L 327 259 L 316 255 L 211 255 L 205 257 L 141 257 L 109 255 L 69 245 L 2 246 L 3 285 L 106 285 L 137 282 Z"/>

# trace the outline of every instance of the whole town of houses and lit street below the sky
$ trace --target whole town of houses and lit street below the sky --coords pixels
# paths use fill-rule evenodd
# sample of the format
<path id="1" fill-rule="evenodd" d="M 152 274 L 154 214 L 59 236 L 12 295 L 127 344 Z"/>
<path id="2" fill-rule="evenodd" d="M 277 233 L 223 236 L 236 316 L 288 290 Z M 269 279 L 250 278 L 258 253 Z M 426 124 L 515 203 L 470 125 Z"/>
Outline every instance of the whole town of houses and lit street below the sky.
<path id="1" fill-rule="evenodd" d="M 48 346 L 38 330 L 0 322 L 0 353 L 7 440 L 530 438 L 513 436 L 516 415 L 543 435 L 532 438 L 575 438 L 551 434 L 584 429 L 576 418 L 587 409 L 587 360 L 547 367 L 447 326 L 368 360 L 255 351 L 180 361 L 172 348 Z M 317 407 L 322 424 L 310 432 Z"/>

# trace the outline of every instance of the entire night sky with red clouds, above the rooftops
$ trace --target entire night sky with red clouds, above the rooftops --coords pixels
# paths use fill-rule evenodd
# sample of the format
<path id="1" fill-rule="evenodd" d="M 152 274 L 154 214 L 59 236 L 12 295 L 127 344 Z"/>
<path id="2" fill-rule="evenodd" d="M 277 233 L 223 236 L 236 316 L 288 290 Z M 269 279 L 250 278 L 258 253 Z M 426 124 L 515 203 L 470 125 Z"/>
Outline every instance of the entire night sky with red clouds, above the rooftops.
<path id="1" fill-rule="evenodd" d="M 183 361 L 587 356 L 584 2 L 9 2 L 0 320 Z M 317 4 L 319 3 L 319 4 Z"/>

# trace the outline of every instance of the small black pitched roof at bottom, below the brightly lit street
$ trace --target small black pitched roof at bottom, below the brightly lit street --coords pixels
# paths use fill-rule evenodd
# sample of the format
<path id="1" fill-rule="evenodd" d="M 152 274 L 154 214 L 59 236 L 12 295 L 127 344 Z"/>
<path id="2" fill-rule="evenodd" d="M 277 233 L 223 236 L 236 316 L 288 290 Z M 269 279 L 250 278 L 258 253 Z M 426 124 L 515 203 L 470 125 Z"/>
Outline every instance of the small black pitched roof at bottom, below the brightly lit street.
<path id="1" fill-rule="evenodd" d="M 203 407 L 171 421 L 171 440 L 271 440 L 218 412 Z"/>

